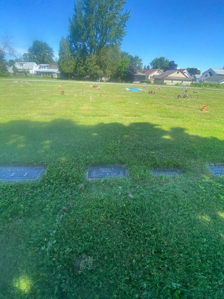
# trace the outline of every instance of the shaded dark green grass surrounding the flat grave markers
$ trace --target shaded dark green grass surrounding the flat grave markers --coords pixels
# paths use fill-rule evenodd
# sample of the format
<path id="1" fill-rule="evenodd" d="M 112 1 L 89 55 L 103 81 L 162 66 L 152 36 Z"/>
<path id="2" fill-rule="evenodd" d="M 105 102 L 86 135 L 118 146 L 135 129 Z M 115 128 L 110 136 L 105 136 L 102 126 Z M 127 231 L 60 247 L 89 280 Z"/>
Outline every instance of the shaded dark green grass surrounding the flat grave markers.
<path id="1" fill-rule="evenodd" d="M 40 181 L 0 184 L 6 298 L 159 298 L 174 283 L 192 298 L 221 295 L 223 179 L 206 165 L 224 162 L 223 141 L 151 123 L 60 119 L 11 121 L 0 132 L 0 165 L 47 168 Z M 130 177 L 86 181 L 91 164 L 123 164 Z M 151 174 L 172 167 L 184 175 Z M 92 269 L 76 269 L 83 254 Z"/>

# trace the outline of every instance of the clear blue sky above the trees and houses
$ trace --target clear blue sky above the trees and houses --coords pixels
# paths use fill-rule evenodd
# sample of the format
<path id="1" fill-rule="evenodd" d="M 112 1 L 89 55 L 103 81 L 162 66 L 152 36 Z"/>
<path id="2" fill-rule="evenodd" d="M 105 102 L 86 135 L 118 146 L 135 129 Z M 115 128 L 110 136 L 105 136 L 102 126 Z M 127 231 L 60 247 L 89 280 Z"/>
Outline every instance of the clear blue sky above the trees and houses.
<path id="1" fill-rule="evenodd" d="M 224 1 L 127 0 L 131 9 L 122 50 L 149 64 L 165 56 L 179 68 L 205 71 L 224 65 Z M 73 0 L 1 0 L 0 36 L 13 37 L 23 54 L 34 39 L 46 41 L 58 54 L 67 35 Z"/>

